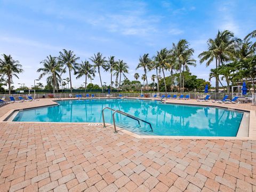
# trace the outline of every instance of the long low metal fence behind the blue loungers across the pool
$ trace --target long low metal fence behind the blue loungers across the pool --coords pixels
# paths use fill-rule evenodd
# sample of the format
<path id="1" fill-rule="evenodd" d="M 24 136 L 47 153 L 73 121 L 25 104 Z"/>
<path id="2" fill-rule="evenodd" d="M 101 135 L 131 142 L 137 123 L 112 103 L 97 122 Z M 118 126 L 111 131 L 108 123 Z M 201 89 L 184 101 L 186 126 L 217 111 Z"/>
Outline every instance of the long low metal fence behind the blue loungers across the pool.
<path id="1" fill-rule="evenodd" d="M 55 93 L 55 94 L 50 94 L 50 93 L 36 93 L 36 94 L 30 94 L 31 97 L 35 98 L 35 99 L 41 99 L 41 98 L 50 98 L 50 95 L 53 95 L 53 98 L 75 98 L 77 94 L 81 94 L 82 97 L 86 97 L 86 94 L 89 94 L 89 96 L 91 97 L 91 93 Z M 128 97 L 128 98 L 134 98 L 134 97 L 139 97 L 141 95 L 141 93 L 111 93 L 112 97 L 118 97 L 119 94 L 122 94 L 123 97 Z M 158 97 L 161 97 L 162 95 L 167 96 L 168 94 L 170 94 L 171 96 L 173 96 L 174 94 L 177 95 L 177 97 L 179 97 L 179 95 L 183 94 L 189 95 L 190 99 L 197 99 L 199 96 L 204 95 L 205 93 L 172 93 L 172 92 L 153 92 L 153 93 L 143 93 L 145 95 L 145 97 L 153 97 L 155 94 L 158 95 Z M 207 93 L 211 95 L 211 99 L 222 99 L 225 95 L 228 95 L 229 99 L 232 99 L 232 93 Z M 2 97 L 6 97 L 6 99 L 9 99 L 9 96 L 13 96 L 14 98 L 18 98 L 18 97 L 27 97 L 29 94 L 28 93 L 20 93 L 20 94 L 0 94 L 0 98 Z M 98 98 L 103 98 L 103 97 L 107 97 L 108 93 L 94 93 L 94 97 L 98 97 Z M 254 103 L 255 103 L 255 97 L 256 94 L 253 94 L 254 96 Z"/>

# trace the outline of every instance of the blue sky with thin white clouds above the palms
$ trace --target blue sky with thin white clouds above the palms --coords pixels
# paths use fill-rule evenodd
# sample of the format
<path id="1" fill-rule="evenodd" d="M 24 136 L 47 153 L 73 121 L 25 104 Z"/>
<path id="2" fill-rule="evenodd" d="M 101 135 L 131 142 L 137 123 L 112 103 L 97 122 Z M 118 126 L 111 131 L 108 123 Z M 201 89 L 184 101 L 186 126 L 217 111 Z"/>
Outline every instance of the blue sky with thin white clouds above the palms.
<path id="1" fill-rule="evenodd" d="M 194 58 L 207 49 L 206 41 L 218 30 L 229 29 L 243 38 L 255 30 L 255 0 L 244 1 L 11 1 L 0 0 L 0 54 L 19 60 L 25 73 L 14 85 L 34 84 L 40 61 L 62 49 L 73 50 L 81 60 L 93 53 L 115 55 L 130 67 L 133 79 L 139 56 L 185 38 L 195 49 Z M 209 80 L 209 70 L 197 62 L 191 73 Z M 103 71 L 102 71 L 103 72 Z M 151 76 L 153 73 L 148 73 Z M 167 75 L 169 72 L 167 72 Z M 63 77 L 68 77 L 65 74 Z M 108 73 L 103 82 L 110 83 Z M 75 79 L 75 87 L 84 78 Z M 45 85 L 45 78 L 41 80 Z M 94 78 L 99 84 L 99 76 Z M 214 84 L 214 81 L 211 82 Z"/>

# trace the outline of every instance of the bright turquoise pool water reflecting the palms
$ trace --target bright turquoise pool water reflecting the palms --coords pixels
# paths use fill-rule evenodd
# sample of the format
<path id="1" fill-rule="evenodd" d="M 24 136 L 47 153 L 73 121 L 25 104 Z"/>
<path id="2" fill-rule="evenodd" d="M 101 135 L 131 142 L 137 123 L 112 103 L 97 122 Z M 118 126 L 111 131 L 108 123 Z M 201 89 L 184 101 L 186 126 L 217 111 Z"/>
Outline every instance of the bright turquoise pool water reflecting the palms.
<path id="1" fill-rule="evenodd" d="M 110 107 L 151 123 L 138 122 L 116 114 L 116 123 L 137 134 L 235 137 L 243 113 L 213 107 L 174 105 L 134 99 L 90 99 L 58 101 L 58 106 L 19 111 L 13 121 L 20 122 L 94 122 L 102 123 L 101 110 Z M 105 110 L 112 123 L 113 111 Z"/>

